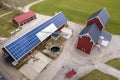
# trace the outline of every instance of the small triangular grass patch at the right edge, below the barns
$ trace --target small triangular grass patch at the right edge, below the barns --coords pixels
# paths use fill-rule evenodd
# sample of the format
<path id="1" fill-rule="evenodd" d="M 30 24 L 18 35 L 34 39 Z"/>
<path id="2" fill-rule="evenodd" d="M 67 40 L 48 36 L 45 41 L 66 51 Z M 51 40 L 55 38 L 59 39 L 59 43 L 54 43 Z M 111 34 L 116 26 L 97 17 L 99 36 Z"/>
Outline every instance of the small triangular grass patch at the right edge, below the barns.
<path id="1" fill-rule="evenodd" d="M 106 62 L 106 64 L 120 70 L 120 58 L 110 60 L 110 61 Z"/>

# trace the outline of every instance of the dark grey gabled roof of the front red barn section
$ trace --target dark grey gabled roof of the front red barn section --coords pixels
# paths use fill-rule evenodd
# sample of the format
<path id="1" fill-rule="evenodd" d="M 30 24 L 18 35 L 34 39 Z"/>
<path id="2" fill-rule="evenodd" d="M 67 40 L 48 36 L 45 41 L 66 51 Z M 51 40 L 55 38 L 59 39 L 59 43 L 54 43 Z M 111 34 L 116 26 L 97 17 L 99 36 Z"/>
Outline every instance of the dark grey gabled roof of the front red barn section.
<path id="1" fill-rule="evenodd" d="M 93 24 L 85 27 L 81 31 L 80 35 L 83 35 L 83 34 L 86 34 L 86 33 L 88 33 L 90 35 L 90 37 L 92 38 L 94 43 L 98 42 L 99 36 L 101 35 L 101 31 L 99 30 L 96 23 L 93 23 Z"/>

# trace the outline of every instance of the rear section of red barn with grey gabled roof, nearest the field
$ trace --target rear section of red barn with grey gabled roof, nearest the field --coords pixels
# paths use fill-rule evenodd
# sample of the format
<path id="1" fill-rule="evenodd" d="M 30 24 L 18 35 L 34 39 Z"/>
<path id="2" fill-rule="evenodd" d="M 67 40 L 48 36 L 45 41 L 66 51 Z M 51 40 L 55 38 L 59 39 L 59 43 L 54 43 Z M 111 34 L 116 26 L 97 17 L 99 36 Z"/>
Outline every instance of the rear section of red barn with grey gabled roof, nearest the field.
<path id="1" fill-rule="evenodd" d="M 96 23 L 100 30 L 106 27 L 108 21 L 110 20 L 110 16 L 107 13 L 105 8 L 100 9 L 99 11 L 93 13 L 87 21 L 87 26 L 93 23 Z"/>

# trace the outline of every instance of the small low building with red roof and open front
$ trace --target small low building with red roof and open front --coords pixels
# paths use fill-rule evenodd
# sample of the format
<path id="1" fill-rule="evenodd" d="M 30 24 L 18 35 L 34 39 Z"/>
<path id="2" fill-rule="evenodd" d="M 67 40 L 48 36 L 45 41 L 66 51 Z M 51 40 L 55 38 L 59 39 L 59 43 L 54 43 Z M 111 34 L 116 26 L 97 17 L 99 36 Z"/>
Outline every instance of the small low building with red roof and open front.
<path id="1" fill-rule="evenodd" d="M 32 11 L 23 13 L 19 16 L 16 16 L 15 18 L 13 18 L 13 23 L 18 25 L 18 26 L 22 26 L 32 20 L 36 19 L 36 14 Z"/>

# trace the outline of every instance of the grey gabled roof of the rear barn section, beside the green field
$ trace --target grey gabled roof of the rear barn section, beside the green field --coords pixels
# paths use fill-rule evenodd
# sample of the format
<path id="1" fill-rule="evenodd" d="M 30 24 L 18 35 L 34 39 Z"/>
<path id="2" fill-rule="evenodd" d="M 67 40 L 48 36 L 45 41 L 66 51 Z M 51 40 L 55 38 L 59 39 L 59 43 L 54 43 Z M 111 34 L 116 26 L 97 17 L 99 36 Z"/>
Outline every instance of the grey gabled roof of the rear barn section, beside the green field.
<path id="1" fill-rule="evenodd" d="M 105 28 L 108 21 L 110 20 L 110 16 L 105 8 L 100 9 L 99 11 L 93 13 L 88 20 L 91 20 L 93 18 L 98 18 L 100 22 L 103 24 L 103 27 Z"/>

